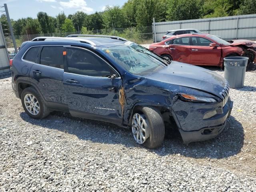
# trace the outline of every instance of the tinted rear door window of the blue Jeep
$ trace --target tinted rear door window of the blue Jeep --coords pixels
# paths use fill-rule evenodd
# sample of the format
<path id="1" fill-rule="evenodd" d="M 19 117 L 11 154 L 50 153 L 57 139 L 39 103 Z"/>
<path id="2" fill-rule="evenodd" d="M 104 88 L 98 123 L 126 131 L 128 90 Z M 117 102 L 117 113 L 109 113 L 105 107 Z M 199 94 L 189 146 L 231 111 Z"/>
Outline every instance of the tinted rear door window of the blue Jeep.
<path id="1" fill-rule="evenodd" d="M 63 69 L 63 50 L 62 46 L 44 46 L 40 56 L 40 64 Z"/>

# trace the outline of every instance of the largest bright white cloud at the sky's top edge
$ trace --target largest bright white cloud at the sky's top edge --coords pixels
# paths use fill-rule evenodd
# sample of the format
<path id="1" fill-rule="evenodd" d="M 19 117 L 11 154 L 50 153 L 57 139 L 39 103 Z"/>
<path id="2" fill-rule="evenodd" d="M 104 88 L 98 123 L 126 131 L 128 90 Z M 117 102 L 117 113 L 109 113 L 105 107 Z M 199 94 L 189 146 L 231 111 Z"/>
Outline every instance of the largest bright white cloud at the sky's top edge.
<path id="1" fill-rule="evenodd" d="M 79 8 L 78 10 L 86 13 L 93 12 L 93 9 L 88 7 L 84 0 L 69 0 L 67 2 L 60 1 L 60 5 L 64 8 Z"/>

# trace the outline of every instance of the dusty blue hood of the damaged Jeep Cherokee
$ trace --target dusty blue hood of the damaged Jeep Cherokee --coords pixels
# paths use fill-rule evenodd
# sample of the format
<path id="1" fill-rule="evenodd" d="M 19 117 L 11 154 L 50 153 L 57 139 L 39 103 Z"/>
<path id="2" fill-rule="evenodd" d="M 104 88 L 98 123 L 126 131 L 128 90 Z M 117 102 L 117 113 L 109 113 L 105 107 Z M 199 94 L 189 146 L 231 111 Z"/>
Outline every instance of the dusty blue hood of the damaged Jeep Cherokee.
<path id="1" fill-rule="evenodd" d="M 227 82 L 216 72 L 176 61 L 145 78 L 194 88 L 216 96 L 219 96 Z"/>

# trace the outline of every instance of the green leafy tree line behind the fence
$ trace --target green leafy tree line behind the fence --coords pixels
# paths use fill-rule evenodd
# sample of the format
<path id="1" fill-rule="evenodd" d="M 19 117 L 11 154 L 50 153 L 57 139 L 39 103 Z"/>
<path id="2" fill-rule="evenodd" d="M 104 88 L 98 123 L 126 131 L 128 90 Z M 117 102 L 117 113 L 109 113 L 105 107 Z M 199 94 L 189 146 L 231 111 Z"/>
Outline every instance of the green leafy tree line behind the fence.
<path id="1" fill-rule="evenodd" d="M 136 27 L 126 34 L 143 33 L 142 26 L 156 22 L 212 18 L 256 13 L 256 0 L 128 0 L 122 7 L 107 6 L 104 12 L 86 14 L 78 11 L 56 17 L 38 12 L 37 18 L 12 20 L 15 35 L 52 34 L 54 32 L 92 33 L 92 30 Z M 2 18 L 3 16 L 1 16 Z M 3 20 L 3 19 L 2 19 Z M 3 23 L 3 21 L 2 21 Z M 3 26 L 7 28 L 8 26 Z"/>

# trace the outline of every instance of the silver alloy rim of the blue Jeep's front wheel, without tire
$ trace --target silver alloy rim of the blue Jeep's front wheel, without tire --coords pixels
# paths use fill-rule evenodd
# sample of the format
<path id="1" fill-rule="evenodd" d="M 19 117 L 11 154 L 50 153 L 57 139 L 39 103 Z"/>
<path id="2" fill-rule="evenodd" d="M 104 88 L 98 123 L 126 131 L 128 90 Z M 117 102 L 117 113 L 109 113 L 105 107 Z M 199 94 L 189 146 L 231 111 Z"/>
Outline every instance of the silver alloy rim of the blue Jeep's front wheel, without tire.
<path id="1" fill-rule="evenodd" d="M 138 144 L 143 144 L 149 137 L 148 128 L 145 118 L 141 114 L 135 113 L 132 117 L 132 134 Z"/>

